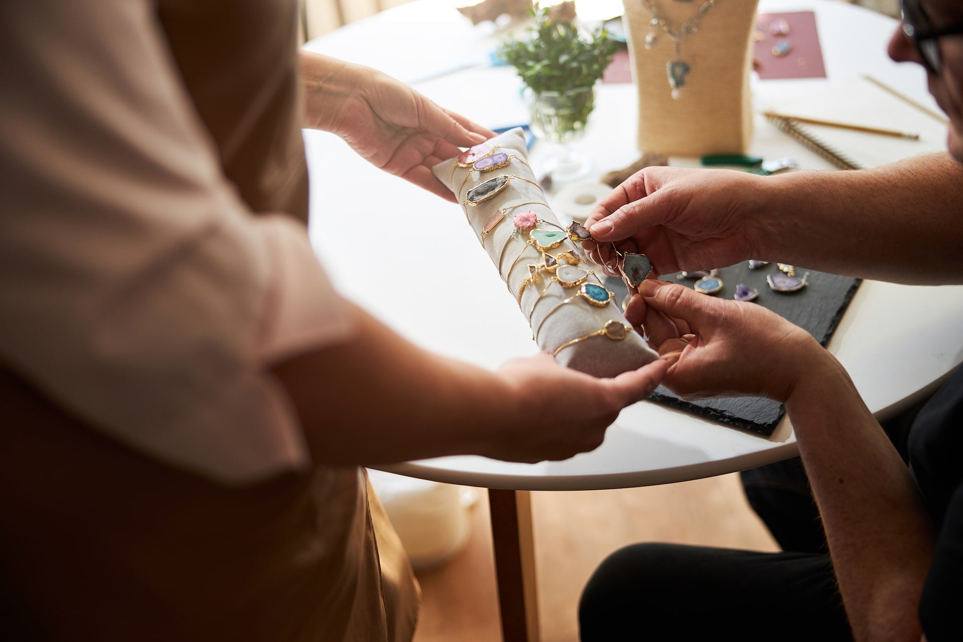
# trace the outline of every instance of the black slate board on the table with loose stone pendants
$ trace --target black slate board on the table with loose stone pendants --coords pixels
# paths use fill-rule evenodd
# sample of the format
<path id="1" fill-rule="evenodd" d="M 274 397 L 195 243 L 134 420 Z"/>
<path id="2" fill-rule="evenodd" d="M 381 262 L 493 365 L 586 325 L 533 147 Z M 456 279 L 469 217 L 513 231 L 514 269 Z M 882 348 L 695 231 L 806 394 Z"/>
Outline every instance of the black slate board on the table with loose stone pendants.
<path id="1" fill-rule="evenodd" d="M 808 285 L 793 293 L 777 293 L 769 289 L 766 281 L 767 274 L 779 271 L 776 264 L 770 263 L 756 270 L 749 270 L 748 262 L 743 261 L 719 270 L 718 276 L 722 279 L 723 288 L 715 296 L 731 299 L 736 293 L 737 283 L 756 288 L 759 291 L 759 297 L 753 303 L 793 321 L 825 346 L 843 318 L 849 301 L 856 294 L 860 279 L 804 268 L 795 270 L 796 276 L 809 271 Z M 679 278 L 677 274 L 666 274 L 660 278 L 664 281 L 681 283 L 690 288 L 695 283 L 695 279 Z M 619 303 L 628 294 L 621 279 L 609 277 L 606 279 L 606 285 L 618 296 Z M 751 358 L 751 355 L 747 356 Z M 657 388 L 650 399 L 699 417 L 764 436 L 772 434 L 776 424 L 786 412 L 780 403 L 768 398 L 727 397 L 686 401 L 676 397 L 663 386 Z"/>

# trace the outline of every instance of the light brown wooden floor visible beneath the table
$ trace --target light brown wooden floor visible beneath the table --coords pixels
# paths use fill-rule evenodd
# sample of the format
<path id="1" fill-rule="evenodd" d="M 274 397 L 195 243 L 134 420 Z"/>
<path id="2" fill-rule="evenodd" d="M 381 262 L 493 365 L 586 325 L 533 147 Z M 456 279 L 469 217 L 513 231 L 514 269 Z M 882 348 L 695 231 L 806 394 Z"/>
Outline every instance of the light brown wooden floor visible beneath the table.
<path id="1" fill-rule="evenodd" d="M 415 642 L 500 640 L 485 492 L 465 549 L 418 573 L 423 592 Z M 542 642 L 577 642 L 576 608 L 592 571 L 636 542 L 778 550 L 742 495 L 738 475 L 610 491 L 532 494 Z"/>

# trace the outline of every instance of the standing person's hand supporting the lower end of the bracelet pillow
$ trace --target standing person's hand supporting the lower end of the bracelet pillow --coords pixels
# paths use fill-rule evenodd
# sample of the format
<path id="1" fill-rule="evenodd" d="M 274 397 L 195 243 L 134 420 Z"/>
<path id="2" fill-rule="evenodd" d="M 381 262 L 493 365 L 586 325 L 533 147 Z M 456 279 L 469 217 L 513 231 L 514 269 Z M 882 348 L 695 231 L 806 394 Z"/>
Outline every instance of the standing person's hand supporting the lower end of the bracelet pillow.
<path id="1" fill-rule="evenodd" d="M 483 454 L 534 463 L 596 449 L 622 408 L 647 398 L 667 367 L 656 359 L 637 371 L 597 379 L 560 366 L 545 352 L 508 361 L 498 374 L 508 383 L 510 415 L 517 421 L 492 426 Z"/>

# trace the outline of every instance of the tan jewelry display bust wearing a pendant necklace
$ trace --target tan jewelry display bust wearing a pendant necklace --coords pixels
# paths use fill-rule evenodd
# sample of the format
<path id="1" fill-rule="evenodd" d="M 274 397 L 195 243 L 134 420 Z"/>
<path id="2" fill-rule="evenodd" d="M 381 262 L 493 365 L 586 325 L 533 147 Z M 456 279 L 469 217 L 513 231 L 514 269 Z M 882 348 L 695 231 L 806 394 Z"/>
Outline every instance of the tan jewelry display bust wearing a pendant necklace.
<path id="1" fill-rule="evenodd" d="M 746 151 L 757 0 L 623 0 L 638 89 L 638 148 Z"/>

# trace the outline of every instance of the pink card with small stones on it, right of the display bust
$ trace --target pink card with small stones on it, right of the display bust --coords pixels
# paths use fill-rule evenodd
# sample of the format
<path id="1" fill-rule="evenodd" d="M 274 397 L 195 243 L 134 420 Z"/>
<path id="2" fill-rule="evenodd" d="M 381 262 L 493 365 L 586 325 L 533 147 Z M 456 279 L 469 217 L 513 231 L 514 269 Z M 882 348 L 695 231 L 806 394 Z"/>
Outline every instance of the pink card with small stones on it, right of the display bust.
<path id="1" fill-rule="evenodd" d="M 815 13 L 759 13 L 752 40 L 760 78 L 826 77 Z"/>

